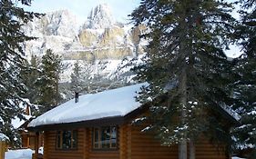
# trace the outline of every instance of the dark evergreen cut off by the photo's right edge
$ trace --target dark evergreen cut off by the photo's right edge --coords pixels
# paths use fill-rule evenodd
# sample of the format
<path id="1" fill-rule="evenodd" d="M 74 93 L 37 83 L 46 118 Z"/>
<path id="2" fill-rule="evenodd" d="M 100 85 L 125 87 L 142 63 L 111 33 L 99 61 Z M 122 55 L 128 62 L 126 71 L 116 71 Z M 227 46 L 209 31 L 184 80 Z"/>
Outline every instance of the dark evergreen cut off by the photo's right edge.
<path id="1" fill-rule="evenodd" d="M 256 158 L 256 1 L 241 1 L 241 25 L 237 35 L 244 54 L 236 59 L 234 71 L 234 107 L 241 114 L 241 124 L 234 130 L 235 149 L 253 149 L 249 158 Z"/>

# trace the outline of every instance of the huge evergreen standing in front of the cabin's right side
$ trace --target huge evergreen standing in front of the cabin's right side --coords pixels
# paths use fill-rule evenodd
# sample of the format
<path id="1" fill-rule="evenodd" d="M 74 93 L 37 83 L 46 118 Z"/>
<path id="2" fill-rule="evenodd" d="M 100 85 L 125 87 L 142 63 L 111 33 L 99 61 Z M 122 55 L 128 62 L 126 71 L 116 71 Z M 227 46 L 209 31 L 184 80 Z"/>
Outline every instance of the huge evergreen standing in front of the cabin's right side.
<path id="1" fill-rule="evenodd" d="M 230 104 L 230 62 L 223 49 L 232 40 L 231 9 L 216 0 L 142 0 L 131 14 L 136 25 L 148 27 L 147 57 L 137 69 L 148 86 L 138 99 L 153 99 L 151 130 L 163 144 L 179 144 L 180 159 L 187 158 L 188 141 L 189 157 L 195 157 L 200 134 L 230 143 L 217 110 Z"/>

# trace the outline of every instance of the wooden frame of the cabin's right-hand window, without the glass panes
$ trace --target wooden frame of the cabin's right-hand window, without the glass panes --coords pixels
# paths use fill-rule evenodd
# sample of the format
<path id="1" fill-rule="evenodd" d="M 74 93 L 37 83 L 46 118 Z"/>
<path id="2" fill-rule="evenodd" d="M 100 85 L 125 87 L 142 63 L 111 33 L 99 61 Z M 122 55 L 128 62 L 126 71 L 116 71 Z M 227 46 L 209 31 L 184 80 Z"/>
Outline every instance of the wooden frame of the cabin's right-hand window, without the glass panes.
<path id="1" fill-rule="evenodd" d="M 106 128 L 109 128 L 109 130 L 111 130 L 111 128 L 115 128 L 116 129 L 116 138 L 115 138 L 115 141 L 116 141 L 116 146 L 113 146 L 113 143 L 111 143 L 112 141 L 112 134 L 110 134 L 110 138 L 109 138 L 109 147 L 103 147 L 102 144 L 102 131 Z M 97 132 L 96 132 L 97 130 Z M 111 131 L 110 131 L 111 132 Z M 97 140 L 98 140 L 98 146 L 96 147 L 96 133 L 97 133 Z M 106 144 L 106 143 L 105 143 Z M 115 151 L 115 150 L 118 150 L 118 126 L 117 125 L 113 125 L 113 126 L 100 126 L 100 127 L 93 127 L 92 129 L 92 149 L 93 150 L 96 150 L 96 151 Z"/>

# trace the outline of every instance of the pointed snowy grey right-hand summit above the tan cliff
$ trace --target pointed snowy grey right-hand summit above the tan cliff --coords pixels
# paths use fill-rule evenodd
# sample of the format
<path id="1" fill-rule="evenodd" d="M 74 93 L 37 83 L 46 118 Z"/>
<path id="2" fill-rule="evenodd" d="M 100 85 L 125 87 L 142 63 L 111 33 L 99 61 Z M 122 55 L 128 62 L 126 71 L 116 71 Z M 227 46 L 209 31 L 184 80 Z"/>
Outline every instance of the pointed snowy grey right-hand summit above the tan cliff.
<path id="1" fill-rule="evenodd" d="M 107 4 L 97 5 L 87 17 L 88 29 L 105 29 L 115 24 L 111 10 Z"/>

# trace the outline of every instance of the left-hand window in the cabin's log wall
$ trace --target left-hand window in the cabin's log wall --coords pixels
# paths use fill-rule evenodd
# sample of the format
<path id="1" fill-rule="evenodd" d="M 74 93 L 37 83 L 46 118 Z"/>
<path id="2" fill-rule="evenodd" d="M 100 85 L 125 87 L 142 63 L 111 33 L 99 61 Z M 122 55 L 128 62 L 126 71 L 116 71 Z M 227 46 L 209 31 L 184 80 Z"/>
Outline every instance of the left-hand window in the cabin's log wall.
<path id="1" fill-rule="evenodd" d="M 76 148 L 77 148 L 77 130 L 56 132 L 56 149 L 76 149 Z"/>

